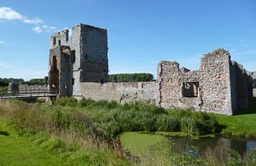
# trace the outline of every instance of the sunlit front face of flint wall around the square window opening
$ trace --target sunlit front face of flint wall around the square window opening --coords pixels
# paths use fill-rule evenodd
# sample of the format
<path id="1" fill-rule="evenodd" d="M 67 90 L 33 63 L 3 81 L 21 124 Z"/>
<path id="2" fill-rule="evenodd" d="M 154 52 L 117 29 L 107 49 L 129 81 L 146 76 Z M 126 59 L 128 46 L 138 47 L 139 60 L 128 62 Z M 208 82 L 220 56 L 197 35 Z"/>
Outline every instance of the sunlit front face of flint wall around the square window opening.
<path id="1" fill-rule="evenodd" d="M 176 62 L 158 66 L 160 105 L 231 115 L 230 56 L 217 50 L 202 57 L 200 70 L 180 70 Z M 183 82 L 198 82 L 196 97 L 184 97 Z"/>

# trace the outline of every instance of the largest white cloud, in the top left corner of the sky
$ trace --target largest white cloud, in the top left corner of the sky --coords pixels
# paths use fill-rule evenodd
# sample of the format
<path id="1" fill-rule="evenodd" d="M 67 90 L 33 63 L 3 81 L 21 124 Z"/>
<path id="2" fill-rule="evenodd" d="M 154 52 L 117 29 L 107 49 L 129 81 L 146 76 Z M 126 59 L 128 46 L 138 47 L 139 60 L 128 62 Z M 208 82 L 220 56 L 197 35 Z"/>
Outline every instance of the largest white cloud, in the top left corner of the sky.
<path id="1" fill-rule="evenodd" d="M 39 18 L 29 19 L 24 15 L 14 11 L 12 8 L 8 8 L 8 7 L 0 7 L 0 20 L 21 20 L 23 21 L 23 23 L 28 23 L 28 24 L 43 23 L 43 21 Z"/>

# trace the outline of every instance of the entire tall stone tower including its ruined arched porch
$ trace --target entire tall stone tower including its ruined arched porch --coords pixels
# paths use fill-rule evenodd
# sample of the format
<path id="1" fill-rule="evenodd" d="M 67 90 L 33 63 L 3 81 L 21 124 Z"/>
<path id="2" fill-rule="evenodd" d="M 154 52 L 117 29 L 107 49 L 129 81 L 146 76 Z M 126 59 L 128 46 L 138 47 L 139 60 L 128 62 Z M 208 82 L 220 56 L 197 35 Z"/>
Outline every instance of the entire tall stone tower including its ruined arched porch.
<path id="1" fill-rule="evenodd" d="M 49 88 L 60 96 L 81 96 L 81 82 L 107 82 L 107 32 L 78 24 L 72 28 L 71 39 L 68 33 L 62 30 L 51 35 Z"/>

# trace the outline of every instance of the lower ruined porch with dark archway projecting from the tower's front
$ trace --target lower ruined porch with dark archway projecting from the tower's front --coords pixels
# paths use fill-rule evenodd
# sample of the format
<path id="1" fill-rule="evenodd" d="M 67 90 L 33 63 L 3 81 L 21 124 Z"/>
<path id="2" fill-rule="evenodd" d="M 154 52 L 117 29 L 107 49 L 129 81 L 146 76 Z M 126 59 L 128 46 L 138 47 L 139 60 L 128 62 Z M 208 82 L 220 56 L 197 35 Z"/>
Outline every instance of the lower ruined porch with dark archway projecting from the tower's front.
<path id="1" fill-rule="evenodd" d="M 49 56 L 49 89 L 59 96 L 71 96 L 73 91 L 73 56 L 69 46 L 56 46 Z"/>

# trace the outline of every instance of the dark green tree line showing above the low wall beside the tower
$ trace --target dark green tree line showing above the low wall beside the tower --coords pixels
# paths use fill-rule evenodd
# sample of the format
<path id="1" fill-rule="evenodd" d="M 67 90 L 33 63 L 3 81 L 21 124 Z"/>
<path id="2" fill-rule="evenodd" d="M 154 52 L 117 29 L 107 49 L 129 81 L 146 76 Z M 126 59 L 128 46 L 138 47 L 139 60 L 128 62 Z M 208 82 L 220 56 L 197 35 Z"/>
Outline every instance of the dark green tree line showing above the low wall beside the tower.
<path id="1" fill-rule="evenodd" d="M 151 82 L 154 76 L 150 73 L 109 75 L 109 82 Z"/>

